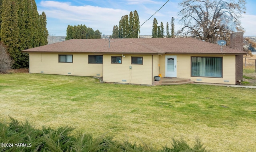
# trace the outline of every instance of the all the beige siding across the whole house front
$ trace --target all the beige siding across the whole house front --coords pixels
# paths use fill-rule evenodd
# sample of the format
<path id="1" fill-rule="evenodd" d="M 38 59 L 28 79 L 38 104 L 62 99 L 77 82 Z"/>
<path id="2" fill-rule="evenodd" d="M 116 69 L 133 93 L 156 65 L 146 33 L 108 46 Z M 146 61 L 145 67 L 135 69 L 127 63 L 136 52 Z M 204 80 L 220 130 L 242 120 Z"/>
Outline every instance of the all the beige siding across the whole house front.
<path id="1" fill-rule="evenodd" d="M 165 55 L 136 55 L 143 57 L 143 65 L 136 65 L 131 64 L 131 57 L 135 55 L 125 55 L 125 58 L 122 57 L 122 64 L 111 64 L 111 56 L 117 55 L 106 54 L 103 56 L 103 64 L 88 64 L 88 54 L 70 54 L 73 55 L 73 63 L 59 63 L 59 54 L 69 55 L 70 53 L 30 53 L 30 73 L 77 76 L 104 75 L 104 82 L 152 85 L 154 76 L 158 76 L 159 74 L 159 64 L 160 72 L 163 77 L 165 76 Z M 199 55 L 176 56 L 177 78 L 190 78 L 195 82 L 203 83 L 236 84 L 236 57 L 234 55 L 223 56 L 223 78 L 191 77 L 191 56 Z M 132 66 L 132 69 L 129 68 L 130 66 Z"/>

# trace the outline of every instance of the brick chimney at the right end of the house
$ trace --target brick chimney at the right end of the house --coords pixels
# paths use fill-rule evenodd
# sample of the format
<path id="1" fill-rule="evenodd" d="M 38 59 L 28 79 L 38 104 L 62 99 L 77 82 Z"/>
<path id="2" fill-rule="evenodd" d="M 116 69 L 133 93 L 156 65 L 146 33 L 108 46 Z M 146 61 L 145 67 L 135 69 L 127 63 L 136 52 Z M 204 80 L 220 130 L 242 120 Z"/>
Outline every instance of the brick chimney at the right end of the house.
<path id="1" fill-rule="evenodd" d="M 244 51 L 244 32 L 231 34 L 230 47 Z M 243 55 L 236 55 L 236 81 L 238 80 L 243 80 Z"/>

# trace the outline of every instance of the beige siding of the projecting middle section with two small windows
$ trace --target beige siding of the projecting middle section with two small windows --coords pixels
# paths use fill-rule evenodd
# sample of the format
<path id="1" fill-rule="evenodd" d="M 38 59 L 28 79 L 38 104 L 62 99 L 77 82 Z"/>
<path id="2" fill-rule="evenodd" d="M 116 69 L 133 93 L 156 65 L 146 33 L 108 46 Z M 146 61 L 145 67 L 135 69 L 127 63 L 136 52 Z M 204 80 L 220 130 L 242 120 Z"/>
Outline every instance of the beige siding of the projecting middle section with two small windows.
<path id="1" fill-rule="evenodd" d="M 103 56 L 104 82 L 152 85 L 152 55 L 136 55 L 143 57 L 143 65 L 131 64 L 131 57 L 134 55 L 122 57 L 122 64 L 111 64 L 111 56 L 118 55 Z"/>

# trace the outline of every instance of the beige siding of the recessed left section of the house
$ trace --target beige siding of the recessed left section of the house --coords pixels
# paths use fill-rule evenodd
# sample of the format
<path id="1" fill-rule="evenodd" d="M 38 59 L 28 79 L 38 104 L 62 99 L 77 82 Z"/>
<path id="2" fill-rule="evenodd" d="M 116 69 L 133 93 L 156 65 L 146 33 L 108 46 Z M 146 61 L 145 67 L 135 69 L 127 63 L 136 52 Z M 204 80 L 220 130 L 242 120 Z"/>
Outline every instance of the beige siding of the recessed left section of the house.
<path id="1" fill-rule="evenodd" d="M 73 63 L 59 63 L 58 55 L 73 55 Z M 102 76 L 102 64 L 88 64 L 88 54 L 30 53 L 30 73 L 62 74 L 76 76 Z"/>

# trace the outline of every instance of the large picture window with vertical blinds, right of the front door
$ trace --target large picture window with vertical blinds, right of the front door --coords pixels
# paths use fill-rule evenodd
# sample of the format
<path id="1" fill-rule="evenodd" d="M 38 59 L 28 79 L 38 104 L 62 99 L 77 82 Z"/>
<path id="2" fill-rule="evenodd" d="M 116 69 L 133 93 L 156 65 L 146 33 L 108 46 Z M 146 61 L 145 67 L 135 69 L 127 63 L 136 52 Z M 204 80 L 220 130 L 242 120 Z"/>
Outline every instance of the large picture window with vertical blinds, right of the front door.
<path id="1" fill-rule="evenodd" d="M 222 57 L 191 57 L 191 76 L 222 78 Z"/>

